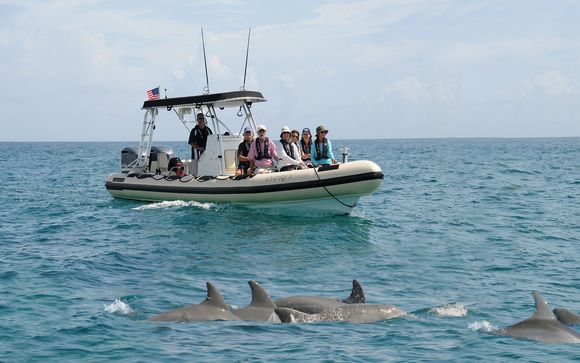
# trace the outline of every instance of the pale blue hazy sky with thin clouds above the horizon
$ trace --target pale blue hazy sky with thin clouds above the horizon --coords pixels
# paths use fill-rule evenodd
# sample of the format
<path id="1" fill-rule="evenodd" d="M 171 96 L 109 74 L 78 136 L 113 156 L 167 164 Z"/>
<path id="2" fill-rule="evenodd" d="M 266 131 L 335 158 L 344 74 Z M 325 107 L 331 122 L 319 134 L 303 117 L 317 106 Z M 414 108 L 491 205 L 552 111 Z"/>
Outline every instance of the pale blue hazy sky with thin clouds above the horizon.
<path id="1" fill-rule="evenodd" d="M 580 136 L 575 0 L 0 0 L 0 141 L 136 141 L 146 90 L 329 138 Z M 229 115 L 227 117 L 230 117 Z M 231 115 L 234 125 L 239 122 Z M 157 140 L 187 140 L 162 111 Z"/>

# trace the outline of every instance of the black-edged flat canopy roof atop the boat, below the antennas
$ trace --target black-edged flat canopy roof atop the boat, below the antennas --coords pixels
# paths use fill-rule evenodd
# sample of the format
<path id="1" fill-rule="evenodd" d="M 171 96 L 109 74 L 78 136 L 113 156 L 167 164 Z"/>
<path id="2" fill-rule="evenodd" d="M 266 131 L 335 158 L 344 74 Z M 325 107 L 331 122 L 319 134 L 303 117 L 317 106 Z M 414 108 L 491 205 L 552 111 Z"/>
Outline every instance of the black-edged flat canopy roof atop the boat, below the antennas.
<path id="1" fill-rule="evenodd" d="M 199 96 L 162 98 L 154 101 L 145 101 L 143 108 L 214 105 L 217 107 L 236 107 L 245 102 L 264 102 L 262 93 L 256 91 L 234 91 L 212 93 Z"/>

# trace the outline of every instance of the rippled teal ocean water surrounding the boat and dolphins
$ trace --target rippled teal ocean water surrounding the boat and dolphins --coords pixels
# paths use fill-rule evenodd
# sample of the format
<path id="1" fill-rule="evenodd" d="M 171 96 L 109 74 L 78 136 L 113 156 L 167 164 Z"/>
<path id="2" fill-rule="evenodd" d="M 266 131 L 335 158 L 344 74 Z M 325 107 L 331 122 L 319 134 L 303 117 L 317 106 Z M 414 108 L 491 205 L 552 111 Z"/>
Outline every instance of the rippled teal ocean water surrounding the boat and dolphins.
<path id="1" fill-rule="evenodd" d="M 169 143 L 187 156 L 185 143 Z M 349 216 L 116 200 L 125 143 L 0 143 L 0 361 L 574 361 L 580 345 L 490 332 L 533 290 L 580 312 L 580 139 L 335 140 L 385 173 Z M 412 316 L 159 323 L 248 280 Z"/>

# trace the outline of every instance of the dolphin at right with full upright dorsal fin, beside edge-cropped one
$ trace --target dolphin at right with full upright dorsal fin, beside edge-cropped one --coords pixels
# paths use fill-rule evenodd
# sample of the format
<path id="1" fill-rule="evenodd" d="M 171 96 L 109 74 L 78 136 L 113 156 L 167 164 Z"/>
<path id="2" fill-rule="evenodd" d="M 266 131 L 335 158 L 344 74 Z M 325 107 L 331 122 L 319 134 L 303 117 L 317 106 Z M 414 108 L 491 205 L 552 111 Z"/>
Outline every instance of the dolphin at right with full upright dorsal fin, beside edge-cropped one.
<path id="1" fill-rule="evenodd" d="M 556 319 L 542 295 L 537 291 L 532 295 L 536 303 L 534 315 L 500 330 L 499 333 L 552 344 L 580 343 L 580 334 Z"/>

